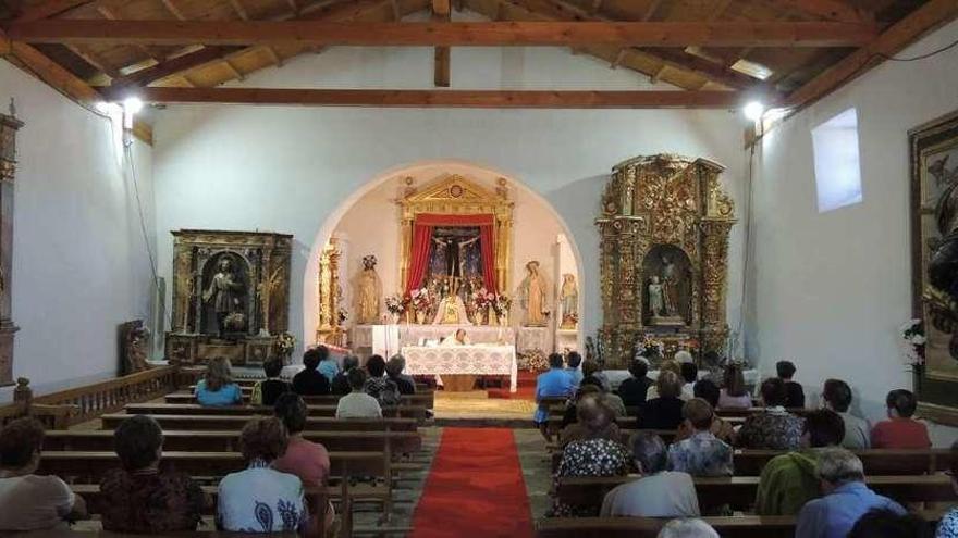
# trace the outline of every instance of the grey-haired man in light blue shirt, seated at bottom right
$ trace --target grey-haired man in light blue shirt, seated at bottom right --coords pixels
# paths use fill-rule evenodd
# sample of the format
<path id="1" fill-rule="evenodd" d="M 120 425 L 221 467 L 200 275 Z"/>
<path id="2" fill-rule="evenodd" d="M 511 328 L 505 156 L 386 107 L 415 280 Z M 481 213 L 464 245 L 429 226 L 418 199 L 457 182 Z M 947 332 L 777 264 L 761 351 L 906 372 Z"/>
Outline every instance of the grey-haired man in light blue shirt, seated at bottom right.
<path id="1" fill-rule="evenodd" d="M 822 450 L 816 474 L 824 497 L 802 506 L 798 513 L 795 538 L 844 538 L 855 523 L 872 509 L 905 513 L 900 504 L 864 485 L 861 460 L 848 450 Z"/>

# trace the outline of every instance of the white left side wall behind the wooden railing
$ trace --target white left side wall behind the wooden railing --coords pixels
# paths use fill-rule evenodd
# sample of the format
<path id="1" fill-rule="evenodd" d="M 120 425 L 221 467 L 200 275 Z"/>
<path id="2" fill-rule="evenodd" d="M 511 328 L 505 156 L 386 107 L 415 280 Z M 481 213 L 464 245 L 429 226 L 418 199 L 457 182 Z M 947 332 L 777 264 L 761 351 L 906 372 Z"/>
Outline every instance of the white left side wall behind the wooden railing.
<path id="1" fill-rule="evenodd" d="M 0 62 L 0 101 L 16 100 L 14 376 L 37 393 L 116 375 L 118 325 L 149 320 L 152 276 L 133 183 L 110 121 Z M 134 145 L 155 241 L 150 148 Z M 155 245 L 153 245 L 155 247 Z M 12 389 L 0 389 L 0 400 Z"/>

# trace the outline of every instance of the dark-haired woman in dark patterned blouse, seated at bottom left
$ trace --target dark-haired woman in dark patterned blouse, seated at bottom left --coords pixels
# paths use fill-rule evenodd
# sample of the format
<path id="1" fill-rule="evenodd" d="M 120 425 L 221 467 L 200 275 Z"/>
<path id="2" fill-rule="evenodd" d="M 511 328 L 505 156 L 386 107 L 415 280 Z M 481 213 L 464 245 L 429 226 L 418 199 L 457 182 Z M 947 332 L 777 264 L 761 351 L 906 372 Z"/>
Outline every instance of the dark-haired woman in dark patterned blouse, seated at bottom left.
<path id="1" fill-rule="evenodd" d="M 123 468 L 108 471 L 100 480 L 100 517 L 105 530 L 173 533 L 196 530 L 207 499 L 193 479 L 160 468 L 163 430 L 152 417 L 135 415 L 113 431 Z"/>

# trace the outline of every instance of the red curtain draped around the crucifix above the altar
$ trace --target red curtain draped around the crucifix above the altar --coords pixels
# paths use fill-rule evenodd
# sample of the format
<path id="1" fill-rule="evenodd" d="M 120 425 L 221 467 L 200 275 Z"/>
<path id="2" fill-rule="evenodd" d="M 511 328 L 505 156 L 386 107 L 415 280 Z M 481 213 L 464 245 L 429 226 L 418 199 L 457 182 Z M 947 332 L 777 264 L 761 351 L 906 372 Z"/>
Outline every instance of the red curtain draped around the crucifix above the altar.
<path id="1" fill-rule="evenodd" d="M 496 291 L 495 281 L 495 215 L 439 215 L 420 213 L 413 223 L 413 252 L 406 292 L 422 286 L 432 250 L 432 230 L 437 226 L 469 226 L 479 228 L 479 248 L 482 252 L 482 280 L 486 289 Z"/>

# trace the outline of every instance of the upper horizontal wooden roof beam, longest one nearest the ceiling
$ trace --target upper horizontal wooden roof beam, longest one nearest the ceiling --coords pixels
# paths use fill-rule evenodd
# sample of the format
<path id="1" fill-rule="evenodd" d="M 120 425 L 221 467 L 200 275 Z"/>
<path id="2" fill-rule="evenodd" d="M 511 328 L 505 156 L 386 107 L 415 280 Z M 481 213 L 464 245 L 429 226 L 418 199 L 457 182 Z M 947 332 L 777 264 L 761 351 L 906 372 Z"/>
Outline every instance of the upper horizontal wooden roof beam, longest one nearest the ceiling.
<path id="1" fill-rule="evenodd" d="M 170 0 L 165 0 L 170 2 Z M 13 23 L 11 39 L 34 43 L 857 47 L 874 25 L 819 22 L 413 22 L 88 21 Z"/>

